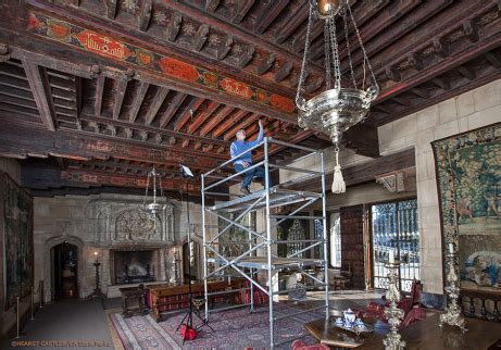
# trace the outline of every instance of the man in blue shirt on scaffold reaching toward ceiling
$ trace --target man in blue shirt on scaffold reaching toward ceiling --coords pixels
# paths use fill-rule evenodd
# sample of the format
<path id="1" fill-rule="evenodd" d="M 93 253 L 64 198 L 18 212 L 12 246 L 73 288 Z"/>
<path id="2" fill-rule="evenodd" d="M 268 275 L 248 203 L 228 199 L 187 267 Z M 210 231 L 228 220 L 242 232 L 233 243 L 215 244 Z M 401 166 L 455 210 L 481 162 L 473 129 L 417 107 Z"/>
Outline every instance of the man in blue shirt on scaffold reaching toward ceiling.
<path id="1" fill-rule="evenodd" d="M 240 129 L 236 134 L 237 139 L 231 143 L 231 147 L 229 148 L 229 154 L 231 159 L 237 157 L 238 154 L 241 154 L 234 161 L 235 172 L 237 173 L 243 172 L 247 167 L 252 166 L 252 151 L 249 150 L 259 142 L 261 142 L 264 138 L 263 122 L 261 122 L 261 120 L 259 121 L 259 126 L 260 133 L 254 141 L 246 141 L 247 135 L 245 129 Z M 260 178 L 260 183 L 264 186 L 264 166 L 258 166 L 251 171 L 247 171 L 246 173 L 243 173 L 243 182 L 240 188 L 240 192 L 242 192 L 243 195 L 252 193 L 250 190 L 250 183 L 254 177 Z M 268 187 L 272 186 L 272 179 L 268 176 Z"/>

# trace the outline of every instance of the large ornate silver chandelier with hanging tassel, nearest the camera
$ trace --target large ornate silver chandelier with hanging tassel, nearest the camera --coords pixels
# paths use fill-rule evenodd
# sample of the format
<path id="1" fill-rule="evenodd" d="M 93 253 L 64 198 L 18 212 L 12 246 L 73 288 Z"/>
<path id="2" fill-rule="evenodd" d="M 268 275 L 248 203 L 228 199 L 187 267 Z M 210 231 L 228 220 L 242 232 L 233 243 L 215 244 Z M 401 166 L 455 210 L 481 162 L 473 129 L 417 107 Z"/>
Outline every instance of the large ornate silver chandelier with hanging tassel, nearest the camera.
<path id="1" fill-rule="evenodd" d="M 342 70 L 339 61 L 339 47 L 336 37 L 336 21 L 342 23 L 349 66 L 341 79 Z M 302 95 L 304 77 L 308 71 L 310 53 L 310 35 L 313 22 L 324 21 L 324 49 L 325 49 L 325 79 L 327 89 L 305 100 Z M 349 22 L 352 23 L 354 33 L 363 54 L 362 82 L 356 82 L 351 60 L 349 41 Z M 368 72 L 367 72 L 368 71 Z M 368 74 L 367 74 L 368 73 Z M 368 77 L 367 77 L 368 75 Z M 346 83 L 345 83 L 346 80 Z M 342 85 L 341 85 L 342 82 Z M 313 129 L 328 134 L 336 146 L 336 166 L 333 183 L 333 192 L 346 191 L 339 165 L 339 142 L 342 134 L 353 125 L 365 120 L 371 108 L 371 102 L 377 98 L 379 86 L 368 62 L 359 28 L 348 5 L 348 0 L 310 0 L 310 15 L 308 20 L 306 40 L 301 65 L 296 104 L 299 109 L 299 126 L 303 129 Z"/>

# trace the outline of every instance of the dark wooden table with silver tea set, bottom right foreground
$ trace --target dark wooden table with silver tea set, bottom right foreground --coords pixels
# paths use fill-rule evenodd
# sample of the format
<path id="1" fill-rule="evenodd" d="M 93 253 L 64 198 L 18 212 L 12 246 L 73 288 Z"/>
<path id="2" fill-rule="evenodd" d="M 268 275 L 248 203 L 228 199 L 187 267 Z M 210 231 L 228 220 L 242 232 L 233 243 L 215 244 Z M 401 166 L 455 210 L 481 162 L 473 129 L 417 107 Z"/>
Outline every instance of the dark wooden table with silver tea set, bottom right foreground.
<path id="1" fill-rule="evenodd" d="M 467 317 L 466 328 L 468 332 L 462 334 L 456 327 L 443 326 L 440 328 L 438 326 L 439 317 L 440 314 L 436 313 L 402 329 L 400 334 L 402 339 L 406 341 L 405 349 L 480 350 L 489 349 L 501 339 L 501 323 Z M 373 325 L 375 332 L 363 334 L 360 338 L 356 338 L 355 334 L 351 332 L 331 326 L 330 321 L 326 322 L 325 318 L 306 323 L 304 327 L 320 342 L 329 347 L 385 349 L 383 339 L 389 328 L 381 322 L 375 322 Z M 500 348 L 491 349 L 501 349 L 501 345 Z"/>

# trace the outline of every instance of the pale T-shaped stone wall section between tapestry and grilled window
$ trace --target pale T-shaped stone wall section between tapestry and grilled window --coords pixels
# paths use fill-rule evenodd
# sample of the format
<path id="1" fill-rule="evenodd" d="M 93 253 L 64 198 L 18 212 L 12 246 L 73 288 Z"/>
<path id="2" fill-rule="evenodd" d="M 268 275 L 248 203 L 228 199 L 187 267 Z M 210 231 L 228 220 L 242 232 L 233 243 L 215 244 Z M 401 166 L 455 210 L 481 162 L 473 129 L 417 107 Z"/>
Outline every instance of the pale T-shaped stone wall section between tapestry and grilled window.
<path id="1" fill-rule="evenodd" d="M 426 291 L 442 293 L 442 239 L 435 160 L 430 142 L 501 122 L 501 80 L 449 99 L 379 127 L 381 152 L 414 147 L 421 232 L 422 279 Z"/>

